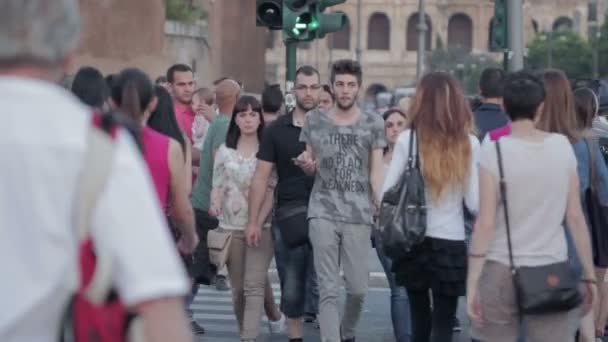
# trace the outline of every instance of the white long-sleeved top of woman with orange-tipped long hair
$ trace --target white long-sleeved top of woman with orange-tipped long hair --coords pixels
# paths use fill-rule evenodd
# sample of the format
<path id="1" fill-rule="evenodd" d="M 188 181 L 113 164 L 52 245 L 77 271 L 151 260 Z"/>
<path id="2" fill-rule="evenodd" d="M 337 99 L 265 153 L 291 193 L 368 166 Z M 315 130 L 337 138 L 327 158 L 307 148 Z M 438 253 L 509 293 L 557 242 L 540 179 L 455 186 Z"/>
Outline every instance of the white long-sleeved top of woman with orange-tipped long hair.
<path id="1" fill-rule="evenodd" d="M 411 130 L 407 129 L 399 135 L 393 150 L 393 159 L 386 172 L 382 193 L 397 184 L 405 170 L 410 146 L 410 134 Z M 479 140 L 473 135 L 469 136 L 469 140 L 471 142 L 471 160 L 469 178 L 466 183 L 459 187 L 446 189 L 438 200 L 431 197 L 428 189 L 426 191 L 426 236 L 445 240 L 464 240 L 463 200 L 467 208 L 473 213 L 477 213 L 479 210 Z M 424 164 L 422 158 L 420 162 Z"/>

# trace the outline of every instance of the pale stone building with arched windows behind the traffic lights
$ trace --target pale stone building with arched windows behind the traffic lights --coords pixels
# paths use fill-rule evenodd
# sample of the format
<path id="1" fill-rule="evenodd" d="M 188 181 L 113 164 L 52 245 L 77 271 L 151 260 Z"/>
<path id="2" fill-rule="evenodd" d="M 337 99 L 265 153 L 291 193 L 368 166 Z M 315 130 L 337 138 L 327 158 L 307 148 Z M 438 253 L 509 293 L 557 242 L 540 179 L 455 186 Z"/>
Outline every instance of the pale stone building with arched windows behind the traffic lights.
<path id="1" fill-rule="evenodd" d="M 360 1 L 360 23 L 357 6 Z M 341 32 L 304 44 L 298 64 L 316 66 L 328 79 L 328 66 L 340 58 L 356 58 L 360 48 L 364 88 L 394 88 L 411 84 L 416 73 L 418 0 L 348 0 L 328 9 L 341 11 L 349 24 Z M 598 19 L 605 3 L 600 1 Z M 493 0 L 426 0 L 427 47 L 461 47 L 473 53 L 489 52 Z M 524 0 L 526 43 L 536 33 L 570 29 L 587 36 L 588 0 Z M 359 25 L 360 24 L 360 25 Z M 360 26 L 359 34 L 358 26 Z M 266 78 L 283 83 L 285 48 L 279 31 L 268 32 Z M 496 57 L 500 56 L 499 54 Z"/>

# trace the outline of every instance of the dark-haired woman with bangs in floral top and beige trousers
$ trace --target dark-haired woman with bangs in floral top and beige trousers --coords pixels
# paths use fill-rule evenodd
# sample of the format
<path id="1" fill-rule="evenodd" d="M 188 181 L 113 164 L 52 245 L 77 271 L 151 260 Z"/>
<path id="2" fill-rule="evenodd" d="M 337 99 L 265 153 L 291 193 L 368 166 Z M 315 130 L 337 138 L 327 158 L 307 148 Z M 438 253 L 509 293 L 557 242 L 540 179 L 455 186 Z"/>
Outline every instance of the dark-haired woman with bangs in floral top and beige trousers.
<path id="1" fill-rule="evenodd" d="M 262 108 L 252 96 L 241 97 L 234 109 L 226 143 L 220 146 L 213 166 L 213 190 L 209 212 L 219 229 L 232 233 L 226 265 L 232 285 L 234 311 L 242 341 L 255 341 L 264 307 L 266 275 L 273 256 L 268 225 L 246 234 L 249 185 L 256 168 L 258 144 L 264 128 Z M 268 189 L 260 217 L 270 216 L 273 188 Z M 260 222 L 260 226 L 264 222 Z M 248 232 L 249 233 L 249 232 Z"/>

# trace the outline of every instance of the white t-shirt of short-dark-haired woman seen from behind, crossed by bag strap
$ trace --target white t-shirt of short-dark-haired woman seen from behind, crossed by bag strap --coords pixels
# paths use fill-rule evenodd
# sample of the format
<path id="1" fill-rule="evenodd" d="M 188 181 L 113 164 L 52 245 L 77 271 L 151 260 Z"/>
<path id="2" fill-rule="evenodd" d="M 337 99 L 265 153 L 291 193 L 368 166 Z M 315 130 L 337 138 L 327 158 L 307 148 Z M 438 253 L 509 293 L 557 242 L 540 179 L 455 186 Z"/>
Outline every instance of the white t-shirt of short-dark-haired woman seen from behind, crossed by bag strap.
<path id="1" fill-rule="evenodd" d="M 563 221 L 568 184 L 577 165 L 572 145 L 563 135 L 550 134 L 541 142 L 503 137 L 500 147 L 515 265 L 540 266 L 566 260 Z M 480 167 L 495 177 L 499 189 L 495 142 L 483 143 Z M 498 204 L 496 210 L 496 232 L 487 258 L 509 265 L 503 206 Z"/>

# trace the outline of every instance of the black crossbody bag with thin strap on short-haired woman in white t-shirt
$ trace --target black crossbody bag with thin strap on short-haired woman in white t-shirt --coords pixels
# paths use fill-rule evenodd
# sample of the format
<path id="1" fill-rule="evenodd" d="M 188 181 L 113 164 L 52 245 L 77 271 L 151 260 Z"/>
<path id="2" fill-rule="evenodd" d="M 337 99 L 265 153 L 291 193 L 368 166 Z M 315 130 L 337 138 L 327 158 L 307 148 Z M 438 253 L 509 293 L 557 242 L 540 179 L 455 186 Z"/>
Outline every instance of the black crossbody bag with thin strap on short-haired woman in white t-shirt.
<path id="1" fill-rule="evenodd" d="M 576 308 L 582 301 L 578 288 L 579 279 L 568 261 L 534 267 L 515 266 L 507 207 L 507 188 L 498 140 L 496 141 L 496 155 L 500 172 L 500 197 L 507 228 L 509 264 L 520 317 L 524 314 L 548 314 Z"/>

